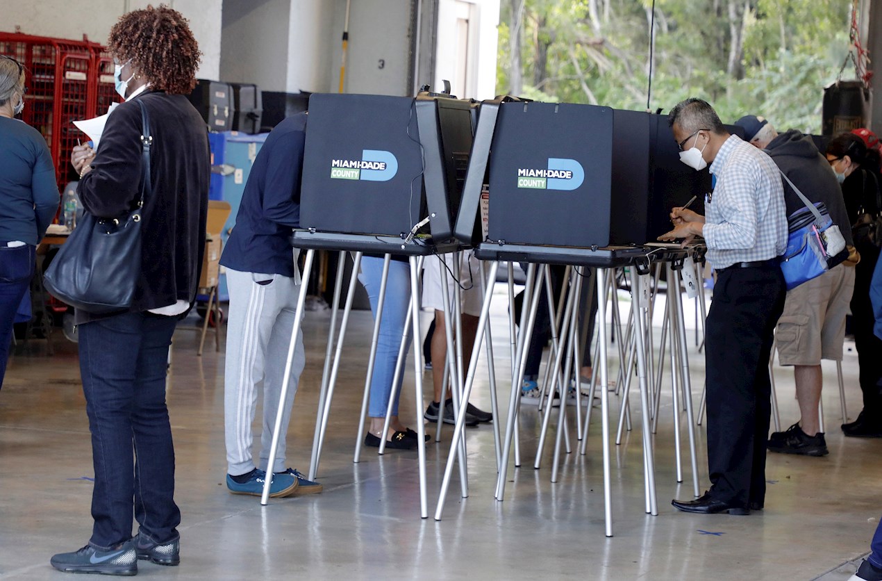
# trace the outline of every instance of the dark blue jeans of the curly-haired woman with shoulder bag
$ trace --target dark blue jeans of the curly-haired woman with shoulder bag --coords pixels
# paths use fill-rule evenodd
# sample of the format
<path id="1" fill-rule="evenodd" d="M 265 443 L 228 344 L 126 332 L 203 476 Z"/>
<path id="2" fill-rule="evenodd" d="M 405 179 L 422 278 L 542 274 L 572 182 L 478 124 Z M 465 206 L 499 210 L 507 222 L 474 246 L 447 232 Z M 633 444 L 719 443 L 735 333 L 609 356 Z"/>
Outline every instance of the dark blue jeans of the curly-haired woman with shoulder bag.
<path id="1" fill-rule="evenodd" d="M 132 516 L 154 542 L 178 537 L 175 449 L 165 401 L 175 317 L 123 313 L 80 325 L 79 371 L 92 432 L 94 526 L 89 544 L 131 539 Z M 141 451 L 143 450 L 143 454 Z"/>

